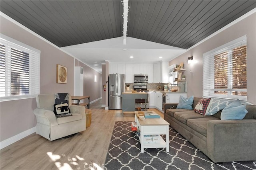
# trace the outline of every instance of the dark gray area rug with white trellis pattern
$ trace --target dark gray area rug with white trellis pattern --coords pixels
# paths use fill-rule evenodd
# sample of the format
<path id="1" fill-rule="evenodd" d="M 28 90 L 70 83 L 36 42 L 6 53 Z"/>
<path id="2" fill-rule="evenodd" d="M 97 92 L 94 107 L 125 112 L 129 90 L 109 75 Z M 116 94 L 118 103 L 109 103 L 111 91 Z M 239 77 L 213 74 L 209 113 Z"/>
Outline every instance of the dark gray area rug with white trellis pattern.
<path id="1" fill-rule="evenodd" d="M 114 126 L 106 162 L 106 170 L 255 170 L 256 162 L 224 162 L 214 164 L 194 145 L 169 128 L 170 152 L 163 148 L 144 149 L 131 122 L 117 121 Z M 163 136 L 164 138 L 164 136 Z"/>

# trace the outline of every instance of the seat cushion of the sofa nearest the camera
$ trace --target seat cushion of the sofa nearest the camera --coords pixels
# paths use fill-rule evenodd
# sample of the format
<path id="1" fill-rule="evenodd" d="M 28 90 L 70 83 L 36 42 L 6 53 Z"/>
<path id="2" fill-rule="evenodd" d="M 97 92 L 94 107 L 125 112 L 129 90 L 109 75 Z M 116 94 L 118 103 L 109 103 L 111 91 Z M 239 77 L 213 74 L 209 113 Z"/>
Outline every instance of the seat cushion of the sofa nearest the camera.
<path id="1" fill-rule="evenodd" d="M 207 134 L 207 122 L 209 120 L 220 120 L 216 117 L 204 117 L 199 119 L 188 119 L 187 125 L 191 129 L 197 131 L 198 133 L 206 136 Z"/>

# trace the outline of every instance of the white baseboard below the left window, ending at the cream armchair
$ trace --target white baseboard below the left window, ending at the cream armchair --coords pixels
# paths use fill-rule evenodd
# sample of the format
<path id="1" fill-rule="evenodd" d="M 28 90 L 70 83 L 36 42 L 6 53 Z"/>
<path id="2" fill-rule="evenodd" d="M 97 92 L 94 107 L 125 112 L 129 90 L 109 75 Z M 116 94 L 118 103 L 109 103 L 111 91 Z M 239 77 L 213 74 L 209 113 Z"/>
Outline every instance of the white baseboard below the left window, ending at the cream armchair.
<path id="1" fill-rule="evenodd" d="M 31 135 L 32 133 L 35 133 L 35 132 L 36 132 L 36 126 L 32 127 L 31 129 L 28 129 L 22 133 L 19 133 L 18 135 L 10 137 L 10 138 L 0 142 L 0 149 L 3 149 L 9 145 L 12 145 L 13 143 L 19 141 L 20 139 L 23 139 L 24 137 L 27 137 L 28 135 Z"/>

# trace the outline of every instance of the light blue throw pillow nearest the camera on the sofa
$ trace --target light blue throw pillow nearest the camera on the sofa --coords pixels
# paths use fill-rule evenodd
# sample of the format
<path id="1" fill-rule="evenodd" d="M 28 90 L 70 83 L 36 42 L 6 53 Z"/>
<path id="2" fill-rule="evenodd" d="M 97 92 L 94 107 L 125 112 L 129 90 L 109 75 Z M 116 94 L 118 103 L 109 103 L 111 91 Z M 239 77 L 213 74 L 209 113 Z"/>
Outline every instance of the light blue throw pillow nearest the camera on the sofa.
<path id="1" fill-rule="evenodd" d="M 221 120 L 241 120 L 248 111 L 245 109 L 246 105 L 242 105 L 237 99 L 228 106 L 226 106 L 220 115 Z"/>

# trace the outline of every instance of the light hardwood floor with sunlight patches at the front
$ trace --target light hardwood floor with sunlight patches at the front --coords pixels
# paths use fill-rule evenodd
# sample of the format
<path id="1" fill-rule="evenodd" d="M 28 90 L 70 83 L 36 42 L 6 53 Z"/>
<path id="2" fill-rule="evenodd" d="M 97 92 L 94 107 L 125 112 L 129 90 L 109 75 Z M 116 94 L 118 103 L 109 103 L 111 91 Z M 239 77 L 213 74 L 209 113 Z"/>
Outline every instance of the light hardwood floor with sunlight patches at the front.
<path id="1" fill-rule="evenodd" d="M 115 121 L 134 121 L 134 113 L 105 110 L 101 100 L 90 104 L 92 120 L 86 131 L 67 139 L 48 141 L 33 133 L 0 150 L 1 170 L 102 169 Z M 163 113 L 156 111 L 163 117 Z"/>

